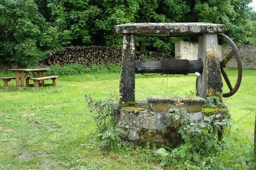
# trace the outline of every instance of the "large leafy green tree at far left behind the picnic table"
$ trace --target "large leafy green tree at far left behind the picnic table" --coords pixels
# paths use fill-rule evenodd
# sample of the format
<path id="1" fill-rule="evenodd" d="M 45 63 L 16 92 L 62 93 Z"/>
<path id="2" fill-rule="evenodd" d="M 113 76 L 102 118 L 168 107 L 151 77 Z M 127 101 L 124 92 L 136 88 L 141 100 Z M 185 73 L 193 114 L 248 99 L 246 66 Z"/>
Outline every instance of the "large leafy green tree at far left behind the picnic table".
<path id="1" fill-rule="evenodd" d="M 0 1 L 0 61 L 38 63 L 48 49 L 59 48 L 58 31 L 48 25 L 33 0 Z"/>

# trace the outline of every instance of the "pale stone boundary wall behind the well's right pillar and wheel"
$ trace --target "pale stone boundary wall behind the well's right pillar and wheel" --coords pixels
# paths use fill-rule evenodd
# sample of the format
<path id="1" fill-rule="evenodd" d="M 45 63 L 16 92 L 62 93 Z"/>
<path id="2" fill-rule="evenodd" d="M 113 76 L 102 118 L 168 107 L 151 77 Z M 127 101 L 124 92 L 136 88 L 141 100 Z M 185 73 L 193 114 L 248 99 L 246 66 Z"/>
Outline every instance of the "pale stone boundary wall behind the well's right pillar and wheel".
<path id="1" fill-rule="evenodd" d="M 256 45 L 237 45 L 239 49 L 242 67 L 244 69 L 252 68 L 256 69 Z M 220 60 L 225 58 L 232 48 L 229 45 L 219 45 L 218 46 L 218 57 Z M 175 42 L 175 58 L 176 59 L 188 59 L 197 60 L 198 54 L 198 43 L 186 42 L 186 41 L 176 41 Z M 226 64 L 227 67 L 237 68 L 236 57 L 233 56 L 229 62 Z"/>

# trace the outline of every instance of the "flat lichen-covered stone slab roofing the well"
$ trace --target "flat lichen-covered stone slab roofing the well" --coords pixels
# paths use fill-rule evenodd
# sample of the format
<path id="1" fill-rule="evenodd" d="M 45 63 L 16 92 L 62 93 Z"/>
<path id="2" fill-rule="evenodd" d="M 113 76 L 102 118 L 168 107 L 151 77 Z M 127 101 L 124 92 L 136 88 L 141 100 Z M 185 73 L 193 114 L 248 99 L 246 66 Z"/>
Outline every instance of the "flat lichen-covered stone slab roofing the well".
<path id="1" fill-rule="evenodd" d="M 226 32 L 226 25 L 214 23 L 127 23 L 114 26 L 114 34 L 136 36 L 201 36 L 203 33 Z"/>

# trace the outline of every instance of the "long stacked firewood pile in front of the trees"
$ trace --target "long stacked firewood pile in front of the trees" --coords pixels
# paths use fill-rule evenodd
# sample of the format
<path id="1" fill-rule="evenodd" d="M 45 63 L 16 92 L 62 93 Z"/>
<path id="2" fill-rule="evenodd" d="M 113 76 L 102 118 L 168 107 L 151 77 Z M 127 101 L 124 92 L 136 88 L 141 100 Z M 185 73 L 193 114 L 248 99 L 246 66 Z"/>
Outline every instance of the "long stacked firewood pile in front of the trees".
<path id="1" fill-rule="evenodd" d="M 38 65 L 47 66 L 55 63 L 60 66 L 73 63 L 90 65 L 93 62 L 96 62 L 96 64 L 116 63 L 121 65 L 122 50 L 120 47 L 113 46 L 65 47 L 61 50 L 48 53 Z M 143 58 L 150 60 L 173 59 L 170 55 L 164 53 L 135 51 L 135 60 L 142 60 Z"/>

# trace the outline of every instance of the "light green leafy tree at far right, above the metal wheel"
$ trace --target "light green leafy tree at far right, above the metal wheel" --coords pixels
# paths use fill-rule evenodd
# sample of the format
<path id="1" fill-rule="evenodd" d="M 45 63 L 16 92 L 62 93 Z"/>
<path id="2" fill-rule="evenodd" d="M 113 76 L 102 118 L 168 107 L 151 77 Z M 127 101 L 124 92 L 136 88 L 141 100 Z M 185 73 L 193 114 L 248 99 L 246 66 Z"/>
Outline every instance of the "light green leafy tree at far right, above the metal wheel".
<path id="1" fill-rule="evenodd" d="M 252 0 L 186 0 L 189 13 L 183 22 L 207 22 L 226 25 L 226 35 L 236 43 L 248 43 L 248 20 Z"/>

